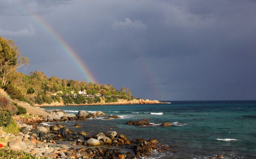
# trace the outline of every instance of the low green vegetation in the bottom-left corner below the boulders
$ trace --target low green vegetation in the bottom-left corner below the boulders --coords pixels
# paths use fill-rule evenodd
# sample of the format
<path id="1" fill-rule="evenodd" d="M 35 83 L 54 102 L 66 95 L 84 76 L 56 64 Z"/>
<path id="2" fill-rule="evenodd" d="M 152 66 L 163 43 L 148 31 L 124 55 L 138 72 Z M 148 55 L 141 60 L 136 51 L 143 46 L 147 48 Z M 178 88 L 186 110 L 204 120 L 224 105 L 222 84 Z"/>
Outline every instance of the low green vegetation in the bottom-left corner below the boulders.
<path id="1" fill-rule="evenodd" d="M 24 151 L 15 151 L 7 147 L 0 148 L 1 159 L 45 159 L 45 157 L 36 157 L 33 154 Z"/>

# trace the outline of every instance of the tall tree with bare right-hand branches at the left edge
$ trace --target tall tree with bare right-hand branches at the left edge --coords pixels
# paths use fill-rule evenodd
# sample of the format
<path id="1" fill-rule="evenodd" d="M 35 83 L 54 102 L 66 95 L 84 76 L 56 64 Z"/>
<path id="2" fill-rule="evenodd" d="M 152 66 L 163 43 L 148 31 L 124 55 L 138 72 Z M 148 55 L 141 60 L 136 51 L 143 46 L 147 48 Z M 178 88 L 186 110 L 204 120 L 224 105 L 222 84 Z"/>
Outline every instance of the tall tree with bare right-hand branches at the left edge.
<path id="1" fill-rule="evenodd" d="M 0 77 L 2 86 L 9 83 L 9 75 L 24 65 L 29 64 L 29 59 L 21 56 L 19 47 L 15 46 L 14 41 L 0 36 Z"/>

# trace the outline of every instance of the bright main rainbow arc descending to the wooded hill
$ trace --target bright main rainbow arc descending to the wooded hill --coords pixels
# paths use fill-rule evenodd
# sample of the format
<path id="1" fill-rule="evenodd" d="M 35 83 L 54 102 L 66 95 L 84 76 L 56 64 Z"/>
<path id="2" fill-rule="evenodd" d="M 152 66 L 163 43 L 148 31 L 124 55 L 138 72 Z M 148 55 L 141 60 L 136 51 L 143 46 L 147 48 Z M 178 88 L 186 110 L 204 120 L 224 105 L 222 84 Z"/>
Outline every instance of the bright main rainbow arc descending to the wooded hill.
<path id="1" fill-rule="evenodd" d="M 26 6 L 19 3 L 18 1 L 15 2 L 17 6 L 20 6 L 23 12 L 31 15 L 33 20 L 45 31 L 47 31 L 53 39 L 59 44 L 59 46 L 64 50 L 64 52 L 70 57 L 70 59 L 74 62 L 80 72 L 83 74 L 84 78 L 87 82 L 91 81 L 97 83 L 97 80 L 94 78 L 92 73 L 89 71 L 89 68 L 85 65 L 85 63 L 79 58 L 78 54 L 74 51 L 74 49 L 61 37 L 61 35 L 54 30 L 52 26 L 50 26 L 42 17 L 37 15 L 36 13 L 27 9 Z"/>

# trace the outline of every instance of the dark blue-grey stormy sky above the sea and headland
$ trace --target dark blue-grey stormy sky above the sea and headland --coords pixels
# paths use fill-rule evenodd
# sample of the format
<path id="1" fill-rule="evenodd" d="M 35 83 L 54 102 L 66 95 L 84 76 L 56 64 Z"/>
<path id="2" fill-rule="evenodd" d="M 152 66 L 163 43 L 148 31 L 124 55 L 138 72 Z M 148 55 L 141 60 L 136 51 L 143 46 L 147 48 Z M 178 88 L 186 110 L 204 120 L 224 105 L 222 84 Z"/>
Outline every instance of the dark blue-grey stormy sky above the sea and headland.
<path id="1" fill-rule="evenodd" d="M 0 36 L 13 39 L 30 59 L 19 69 L 25 74 L 94 79 L 151 100 L 256 99 L 254 0 L 0 4 Z M 87 67 L 89 78 L 56 36 Z"/>

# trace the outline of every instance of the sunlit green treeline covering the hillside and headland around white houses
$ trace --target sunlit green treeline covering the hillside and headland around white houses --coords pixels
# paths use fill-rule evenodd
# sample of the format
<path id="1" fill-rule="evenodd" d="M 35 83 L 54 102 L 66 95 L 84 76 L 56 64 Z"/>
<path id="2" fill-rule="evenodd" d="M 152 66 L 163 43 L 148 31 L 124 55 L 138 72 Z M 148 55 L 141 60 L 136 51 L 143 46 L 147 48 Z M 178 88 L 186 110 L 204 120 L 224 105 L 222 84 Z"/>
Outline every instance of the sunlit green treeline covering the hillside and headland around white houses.
<path id="1" fill-rule="evenodd" d="M 30 72 L 30 75 L 16 71 L 17 68 L 28 64 L 29 59 L 21 56 L 14 41 L 0 36 L 1 87 L 13 99 L 26 101 L 30 104 L 50 104 L 61 100 L 64 104 L 82 104 L 97 103 L 101 100 L 116 102 L 117 99 L 134 99 L 131 90 L 125 87 L 116 89 L 112 84 L 87 83 L 86 80 L 67 80 L 55 76 L 48 78 L 39 71 Z M 87 94 L 94 95 L 94 97 L 84 97 L 78 93 L 80 90 L 86 90 Z M 74 91 L 77 97 L 73 97 L 71 91 Z"/>

